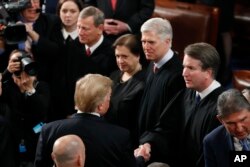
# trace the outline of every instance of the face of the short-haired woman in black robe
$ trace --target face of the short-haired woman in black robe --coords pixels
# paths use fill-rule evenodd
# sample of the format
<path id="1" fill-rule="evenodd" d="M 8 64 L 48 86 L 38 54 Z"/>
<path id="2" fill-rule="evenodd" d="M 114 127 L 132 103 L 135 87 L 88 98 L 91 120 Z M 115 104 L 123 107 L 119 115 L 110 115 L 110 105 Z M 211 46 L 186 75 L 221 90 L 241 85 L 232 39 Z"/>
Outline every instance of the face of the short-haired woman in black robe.
<path id="1" fill-rule="evenodd" d="M 122 72 L 132 73 L 138 63 L 139 55 L 134 55 L 126 46 L 117 45 L 115 48 L 116 62 Z"/>

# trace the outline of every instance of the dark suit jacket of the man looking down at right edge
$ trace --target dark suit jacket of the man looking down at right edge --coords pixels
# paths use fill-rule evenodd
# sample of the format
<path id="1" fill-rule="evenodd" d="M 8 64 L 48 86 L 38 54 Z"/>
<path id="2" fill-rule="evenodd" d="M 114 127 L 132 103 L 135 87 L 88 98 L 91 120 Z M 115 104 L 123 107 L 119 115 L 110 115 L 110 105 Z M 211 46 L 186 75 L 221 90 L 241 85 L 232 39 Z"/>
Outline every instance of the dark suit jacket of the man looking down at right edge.
<path id="1" fill-rule="evenodd" d="M 206 167 L 229 167 L 229 152 L 234 150 L 232 136 L 223 125 L 210 132 L 203 141 Z"/>

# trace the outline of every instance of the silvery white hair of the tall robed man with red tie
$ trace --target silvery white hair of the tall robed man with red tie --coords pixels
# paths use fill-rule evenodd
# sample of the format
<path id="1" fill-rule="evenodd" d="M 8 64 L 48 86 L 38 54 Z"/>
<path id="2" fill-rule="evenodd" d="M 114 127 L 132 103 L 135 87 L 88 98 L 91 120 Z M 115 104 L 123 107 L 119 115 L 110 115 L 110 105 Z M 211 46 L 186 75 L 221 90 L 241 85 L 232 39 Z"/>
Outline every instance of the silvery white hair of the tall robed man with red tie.
<path id="1" fill-rule="evenodd" d="M 170 22 L 162 18 L 151 18 L 141 26 L 141 32 L 155 32 L 162 40 L 170 38 L 173 39 L 173 30 Z"/>

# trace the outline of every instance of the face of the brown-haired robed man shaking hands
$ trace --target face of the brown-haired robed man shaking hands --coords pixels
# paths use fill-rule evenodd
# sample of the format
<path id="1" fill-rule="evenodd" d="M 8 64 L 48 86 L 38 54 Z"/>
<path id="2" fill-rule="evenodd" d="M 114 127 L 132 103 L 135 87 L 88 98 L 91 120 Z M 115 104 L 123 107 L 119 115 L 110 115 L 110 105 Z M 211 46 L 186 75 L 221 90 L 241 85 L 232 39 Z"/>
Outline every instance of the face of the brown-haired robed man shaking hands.
<path id="1" fill-rule="evenodd" d="M 208 81 L 212 80 L 212 71 L 211 69 L 203 70 L 199 60 L 185 55 L 182 76 L 187 88 L 201 92 L 209 85 Z"/>

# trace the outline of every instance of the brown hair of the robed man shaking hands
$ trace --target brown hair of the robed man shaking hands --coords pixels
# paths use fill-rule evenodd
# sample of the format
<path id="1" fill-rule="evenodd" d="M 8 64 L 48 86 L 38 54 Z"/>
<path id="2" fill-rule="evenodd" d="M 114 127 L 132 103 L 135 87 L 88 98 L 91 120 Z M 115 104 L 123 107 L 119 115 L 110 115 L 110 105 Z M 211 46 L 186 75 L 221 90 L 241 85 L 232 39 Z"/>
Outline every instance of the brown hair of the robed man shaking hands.
<path id="1" fill-rule="evenodd" d="M 216 77 L 220 66 L 220 56 L 215 47 L 204 42 L 194 43 L 184 49 L 184 54 L 199 60 L 203 70 L 211 68 L 213 77 Z"/>

